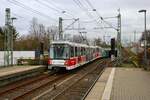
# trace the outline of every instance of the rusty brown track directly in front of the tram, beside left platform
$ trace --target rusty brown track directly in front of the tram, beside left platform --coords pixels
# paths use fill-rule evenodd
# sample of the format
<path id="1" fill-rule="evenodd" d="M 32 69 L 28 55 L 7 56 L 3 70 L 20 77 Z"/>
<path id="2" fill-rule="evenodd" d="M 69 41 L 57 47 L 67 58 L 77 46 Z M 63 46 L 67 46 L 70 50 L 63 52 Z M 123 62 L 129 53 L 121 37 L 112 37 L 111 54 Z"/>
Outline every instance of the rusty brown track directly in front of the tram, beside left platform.
<path id="1" fill-rule="evenodd" d="M 52 72 L 47 75 L 41 75 L 37 78 L 24 81 L 21 84 L 13 84 L 3 91 L 0 91 L 0 100 L 8 99 L 21 99 L 23 96 L 30 94 L 44 86 L 51 85 L 67 74 L 56 74 Z"/>

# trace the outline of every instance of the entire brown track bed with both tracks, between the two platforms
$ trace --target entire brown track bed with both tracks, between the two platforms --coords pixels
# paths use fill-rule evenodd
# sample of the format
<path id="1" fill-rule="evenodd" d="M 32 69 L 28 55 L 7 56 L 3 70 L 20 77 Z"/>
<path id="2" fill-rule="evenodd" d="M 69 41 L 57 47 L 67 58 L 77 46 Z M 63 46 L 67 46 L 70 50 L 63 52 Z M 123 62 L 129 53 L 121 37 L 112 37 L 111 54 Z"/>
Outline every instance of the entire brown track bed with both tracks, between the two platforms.
<path id="1" fill-rule="evenodd" d="M 105 60 L 96 60 L 71 72 L 41 75 L 20 84 L 10 85 L 7 88 L 0 89 L 0 100 L 45 100 L 50 98 L 68 100 L 72 96 L 81 99 L 87 94 L 93 81 L 102 72 L 105 67 L 104 62 Z M 69 92 L 71 94 L 68 94 Z"/>

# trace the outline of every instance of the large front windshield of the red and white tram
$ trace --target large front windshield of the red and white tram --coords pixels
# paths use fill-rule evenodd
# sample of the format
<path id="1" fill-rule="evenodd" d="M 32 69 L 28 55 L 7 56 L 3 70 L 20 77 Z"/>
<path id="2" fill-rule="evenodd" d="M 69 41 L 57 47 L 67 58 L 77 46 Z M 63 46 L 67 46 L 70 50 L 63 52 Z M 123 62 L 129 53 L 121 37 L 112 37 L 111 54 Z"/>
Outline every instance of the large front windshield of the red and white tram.
<path id="1" fill-rule="evenodd" d="M 51 59 L 68 59 L 69 58 L 69 46 L 66 44 L 53 44 L 50 47 Z"/>

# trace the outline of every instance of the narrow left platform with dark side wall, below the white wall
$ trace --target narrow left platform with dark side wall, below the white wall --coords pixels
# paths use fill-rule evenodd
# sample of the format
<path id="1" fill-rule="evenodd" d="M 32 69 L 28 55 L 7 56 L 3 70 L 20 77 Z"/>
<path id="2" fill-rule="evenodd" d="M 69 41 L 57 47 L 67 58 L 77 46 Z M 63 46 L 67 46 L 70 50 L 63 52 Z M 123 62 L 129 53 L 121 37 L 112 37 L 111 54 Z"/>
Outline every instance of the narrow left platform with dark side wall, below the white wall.
<path id="1" fill-rule="evenodd" d="M 0 68 L 0 86 L 39 74 L 46 66 L 13 66 Z"/>

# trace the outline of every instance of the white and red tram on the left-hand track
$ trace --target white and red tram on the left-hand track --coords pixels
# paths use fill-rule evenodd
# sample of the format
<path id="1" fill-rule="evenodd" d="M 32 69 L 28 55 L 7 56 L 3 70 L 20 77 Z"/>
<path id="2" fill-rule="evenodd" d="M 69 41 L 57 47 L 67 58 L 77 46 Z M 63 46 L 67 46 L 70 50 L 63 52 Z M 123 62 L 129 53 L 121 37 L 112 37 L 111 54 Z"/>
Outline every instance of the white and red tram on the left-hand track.
<path id="1" fill-rule="evenodd" d="M 48 69 L 75 69 L 101 57 L 101 48 L 68 41 L 54 41 L 50 45 Z"/>

